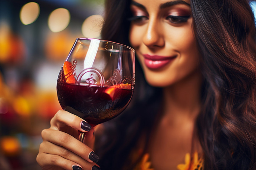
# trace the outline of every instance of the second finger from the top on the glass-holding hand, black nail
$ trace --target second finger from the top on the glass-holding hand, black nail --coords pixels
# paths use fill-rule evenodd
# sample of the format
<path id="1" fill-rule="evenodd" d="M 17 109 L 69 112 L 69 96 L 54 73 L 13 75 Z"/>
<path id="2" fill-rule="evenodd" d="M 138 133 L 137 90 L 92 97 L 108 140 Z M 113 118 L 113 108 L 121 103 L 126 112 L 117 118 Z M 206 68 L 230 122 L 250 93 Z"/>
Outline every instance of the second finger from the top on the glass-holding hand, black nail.
<path id="1" fill-rule="evenodd" d="M 55 145 L 66 148 L 67 150 L 75 153 L 88 162 L 98 162 L 98 155 L 95 154 L 89 146 L 83 144 L 65 132 L 56 131 L 53 129 L 45 129 L 42 131 L 42 138 L 43 141 L 48 141 Z"/>

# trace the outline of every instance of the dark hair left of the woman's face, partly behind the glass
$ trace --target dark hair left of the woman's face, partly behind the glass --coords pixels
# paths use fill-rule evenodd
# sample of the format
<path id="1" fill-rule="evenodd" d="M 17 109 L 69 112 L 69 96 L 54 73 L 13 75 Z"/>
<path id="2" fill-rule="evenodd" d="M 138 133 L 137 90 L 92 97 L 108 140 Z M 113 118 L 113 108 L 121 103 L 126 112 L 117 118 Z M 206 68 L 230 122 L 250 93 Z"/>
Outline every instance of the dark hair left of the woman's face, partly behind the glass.
<path id="1" fill-rule="evenodd" d="M 130 0 L 107 0 L 105 9 L 101 38 L 130 46 Z M 135 89 L 130 104 L 121 115 L 105 122 L 104 131 L 96 136 L 95 151 L 100 156 L 98 164 L 102 169 L 130 170 L 133 167 L 136 162 L 126 162 L 127 158 L 142 132 L 149 137 L 158 112 L 161 89 L 146 83 L 137 59 L 135 71 Z"/>

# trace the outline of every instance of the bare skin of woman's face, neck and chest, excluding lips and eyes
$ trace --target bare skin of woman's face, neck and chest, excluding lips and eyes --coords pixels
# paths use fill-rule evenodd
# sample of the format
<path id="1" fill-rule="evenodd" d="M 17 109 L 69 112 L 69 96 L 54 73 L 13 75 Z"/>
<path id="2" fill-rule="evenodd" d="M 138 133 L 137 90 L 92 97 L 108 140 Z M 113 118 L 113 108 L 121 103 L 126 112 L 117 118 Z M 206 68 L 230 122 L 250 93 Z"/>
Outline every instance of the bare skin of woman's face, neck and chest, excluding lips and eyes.
<path id="1" fill-rule="evenodd" d="M 151 134 L 148 152 L 152 166 L 157 170 L 176 169 L 184 163 L 184 156 L 192 149 L 201 152 L 199 142 L 193 138 L 195 118 L 200 111 L 199 52 L 192 28 L 193 18 L 180 22 L 169 15 L 191 15 L 190 1 L 185 0 L 165 8 L 167 0 L 135 0 L 131 5 L 134 16 L 130 28 L 130 43 L 142 65 L 149 84 L 163 87 L 163 117 Z M 145 65 L 143 54 L 175 56 L 159 69 Z"/>

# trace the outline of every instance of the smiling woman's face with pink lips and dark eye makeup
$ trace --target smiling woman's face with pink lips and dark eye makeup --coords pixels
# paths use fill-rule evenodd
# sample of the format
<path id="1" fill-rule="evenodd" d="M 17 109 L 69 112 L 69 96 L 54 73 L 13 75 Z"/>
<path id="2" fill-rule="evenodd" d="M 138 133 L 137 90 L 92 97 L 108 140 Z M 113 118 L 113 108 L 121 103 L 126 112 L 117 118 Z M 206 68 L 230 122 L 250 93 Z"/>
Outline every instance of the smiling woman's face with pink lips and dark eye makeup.
<path id="1" fill-rule="evenodd" d="M 167 87 L 199 74 L 189 0 L 133 0 L 130 43 L 149 84 Z"/>

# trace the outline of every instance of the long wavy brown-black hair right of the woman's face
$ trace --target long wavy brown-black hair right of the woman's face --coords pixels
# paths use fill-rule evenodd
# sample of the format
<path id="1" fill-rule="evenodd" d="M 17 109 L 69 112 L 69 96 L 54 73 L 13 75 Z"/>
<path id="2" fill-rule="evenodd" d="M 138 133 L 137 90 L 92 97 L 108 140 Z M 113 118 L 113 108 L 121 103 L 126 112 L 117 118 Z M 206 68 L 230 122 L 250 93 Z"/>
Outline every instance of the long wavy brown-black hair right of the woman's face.
<path id="1" fill-rule="evenodd" d="M 206 169 L 256 169 L 256 46 L 247 0 L 191 0 L 205 77 L 198 135 Z"/>

